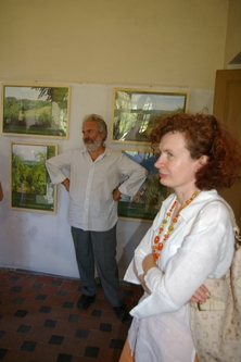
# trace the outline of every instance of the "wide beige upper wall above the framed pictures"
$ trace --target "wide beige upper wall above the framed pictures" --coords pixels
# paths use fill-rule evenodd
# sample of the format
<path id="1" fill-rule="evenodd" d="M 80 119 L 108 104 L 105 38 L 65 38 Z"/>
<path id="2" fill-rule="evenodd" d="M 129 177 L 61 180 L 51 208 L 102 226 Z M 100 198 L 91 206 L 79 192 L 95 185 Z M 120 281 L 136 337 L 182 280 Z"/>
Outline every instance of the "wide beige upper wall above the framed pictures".
<path id="1" fill-rule="evenodd" d="M 228 3 L 0 0 L 0 79 L 213 89 Z"/>

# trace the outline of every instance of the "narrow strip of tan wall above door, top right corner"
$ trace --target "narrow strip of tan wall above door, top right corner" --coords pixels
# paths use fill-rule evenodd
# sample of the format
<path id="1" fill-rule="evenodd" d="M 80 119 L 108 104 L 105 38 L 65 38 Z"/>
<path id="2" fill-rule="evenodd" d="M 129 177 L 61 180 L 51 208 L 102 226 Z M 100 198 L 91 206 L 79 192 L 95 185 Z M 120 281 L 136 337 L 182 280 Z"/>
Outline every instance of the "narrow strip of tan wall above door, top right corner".
<path id="1" fill-rule="evenodd" d="M 227 39 L 225 48 L 225 64 L 227 68 L 230 61 L 241 51 L 241 1 L 229 0 Z"/>

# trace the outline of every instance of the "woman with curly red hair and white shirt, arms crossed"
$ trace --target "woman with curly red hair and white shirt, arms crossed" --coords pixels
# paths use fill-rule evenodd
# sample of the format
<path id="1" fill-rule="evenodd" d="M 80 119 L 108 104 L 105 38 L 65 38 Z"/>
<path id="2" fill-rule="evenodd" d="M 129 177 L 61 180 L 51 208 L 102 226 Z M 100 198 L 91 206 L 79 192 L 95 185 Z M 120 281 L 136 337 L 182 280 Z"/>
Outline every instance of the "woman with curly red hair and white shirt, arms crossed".
<path id="1" fill-rule="evenodd" d="M 234 237 L 218 188 L 239 179 L 241 147 L 212 115 L 160 117 L 151 134 L 158 146 L 160 182 L 174 190 L 135 251 L 125 279 L 144 295 L 134 316 L 120 361 L 198 361 L 189 301 L 205 302 L 207 277 L 229 269 Z M 219 202 L 221 200 L 223 202 Z"/>

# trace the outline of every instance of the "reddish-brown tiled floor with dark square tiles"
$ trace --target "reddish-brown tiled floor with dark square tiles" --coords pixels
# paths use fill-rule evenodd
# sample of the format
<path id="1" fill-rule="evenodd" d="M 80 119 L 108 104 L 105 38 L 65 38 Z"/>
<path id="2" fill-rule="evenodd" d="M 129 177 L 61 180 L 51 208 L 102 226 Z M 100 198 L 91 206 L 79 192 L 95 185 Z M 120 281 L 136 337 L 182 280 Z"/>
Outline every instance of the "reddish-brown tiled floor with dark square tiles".
<path id="1" fill-rule="evenodd" d="M 122 283 L 130 310 L 142 295 Z M 120 322 L 103 296 L 79 311 L 79 280 L 0 269 L 0 361 L 117 362 L 131 320 Z"/>

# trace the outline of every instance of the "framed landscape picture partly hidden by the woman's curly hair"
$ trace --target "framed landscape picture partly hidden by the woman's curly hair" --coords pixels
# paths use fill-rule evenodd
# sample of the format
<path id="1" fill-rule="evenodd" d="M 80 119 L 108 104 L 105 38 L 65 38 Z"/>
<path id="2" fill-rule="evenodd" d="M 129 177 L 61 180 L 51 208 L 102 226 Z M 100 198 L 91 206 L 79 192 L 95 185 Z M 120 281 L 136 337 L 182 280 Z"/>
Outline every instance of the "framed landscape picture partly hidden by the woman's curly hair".
<path id="1" fill-rule="evenodd" d="M 189 93 L 114 88 L 112 141 L 148 143 L 157 115 L 186 112 Z"/>

